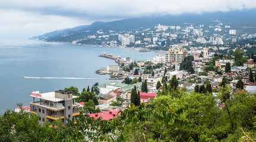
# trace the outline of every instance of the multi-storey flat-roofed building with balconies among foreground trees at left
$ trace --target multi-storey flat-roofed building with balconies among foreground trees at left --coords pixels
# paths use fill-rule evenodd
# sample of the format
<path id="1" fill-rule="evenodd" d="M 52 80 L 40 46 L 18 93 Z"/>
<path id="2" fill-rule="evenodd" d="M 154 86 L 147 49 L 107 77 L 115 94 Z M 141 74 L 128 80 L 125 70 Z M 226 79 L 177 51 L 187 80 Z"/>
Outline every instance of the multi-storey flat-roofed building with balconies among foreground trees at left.
<path id="1" fill-rule="evenodd" d="M 43 124 L 46 119 L 49 122 L 61 118 L 64 124 L 65 118 L 72 120 L 73 117 L 79 115 L 78 107 L 80 106 L 75 102 L 79 96 L 73 96 L 71 91 L 58 90 L 55 92 L 39 93 L 31 92 L 30 96 L 33 97 L 33 102 L 30 102 L 30 113 L 38 114 L 39 123 Z M 38 98 L 39 101 L 35 101 Z"/>

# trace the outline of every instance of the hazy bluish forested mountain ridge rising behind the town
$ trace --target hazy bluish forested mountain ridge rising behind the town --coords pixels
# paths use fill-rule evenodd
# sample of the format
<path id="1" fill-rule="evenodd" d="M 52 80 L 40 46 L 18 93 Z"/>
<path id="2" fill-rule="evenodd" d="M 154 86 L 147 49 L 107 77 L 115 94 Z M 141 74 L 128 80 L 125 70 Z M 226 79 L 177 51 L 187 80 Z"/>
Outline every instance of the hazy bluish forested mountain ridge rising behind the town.
<path id="1" fill-rule="evenodd" d="M 91 25 L 81 25 L 65 30 L 52 31 L 51 33 L 35 36 L 33 39 L 36 38 L 45 41 L 71 42 L 73 40 L 82 39 L 87 35 L 95 35 L 96 31 L 99 30 L 104 33 L 109 33 L 110 30 L 117 32 L 143 30 L 146 28 L 155 27 L 158 24 L 183 26 L 184 23 L 191 23 L 210 25 L 214 24 L 213 20 L 219 20 L 223 24 L 231 25 L 232 28 L 240 29 L 245 26 L 256 27 L 255 14 L 256 9 L 250 9 L 243 11 L 213 12 L 204 14 L 128 18 L 112 22 L 93 22 Z M 242 30 L 248 30 L 248 28 Z"/>

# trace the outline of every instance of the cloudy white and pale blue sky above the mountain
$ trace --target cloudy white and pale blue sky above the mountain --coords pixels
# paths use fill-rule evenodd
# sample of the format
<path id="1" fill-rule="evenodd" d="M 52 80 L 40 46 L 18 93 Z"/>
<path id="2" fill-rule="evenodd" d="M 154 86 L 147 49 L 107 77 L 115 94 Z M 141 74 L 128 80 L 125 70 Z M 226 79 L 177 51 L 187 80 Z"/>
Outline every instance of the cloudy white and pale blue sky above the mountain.
<path id="1" fill-rule="evenodd" d="M 255 0 L 1 0 L 0 38 L 29 38 L 95 21 L 253 8 Z"/>

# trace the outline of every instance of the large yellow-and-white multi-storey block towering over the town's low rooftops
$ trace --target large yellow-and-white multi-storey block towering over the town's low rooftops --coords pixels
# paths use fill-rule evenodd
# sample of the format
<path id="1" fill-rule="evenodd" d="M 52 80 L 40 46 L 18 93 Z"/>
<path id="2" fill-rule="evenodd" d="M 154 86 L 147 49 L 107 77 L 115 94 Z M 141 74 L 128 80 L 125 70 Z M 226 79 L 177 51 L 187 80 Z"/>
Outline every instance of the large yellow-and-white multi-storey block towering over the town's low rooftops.
<path id="1" fill-rule="evenodd" d="M 177 47 L 176 49 L 169 49 L 166 54 L 166 62 L 182 63 L 184 58 L 188 56 L 188 50 Z"/>

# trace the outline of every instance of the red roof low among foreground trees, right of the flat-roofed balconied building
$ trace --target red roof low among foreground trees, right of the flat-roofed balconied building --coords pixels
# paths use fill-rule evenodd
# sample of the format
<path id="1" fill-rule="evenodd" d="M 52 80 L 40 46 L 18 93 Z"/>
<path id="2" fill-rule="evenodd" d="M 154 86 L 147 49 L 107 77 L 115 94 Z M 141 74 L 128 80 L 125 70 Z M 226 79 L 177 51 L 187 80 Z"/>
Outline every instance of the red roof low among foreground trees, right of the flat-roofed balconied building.
<path id="1" fill-rule="evenodd" d="M 117 118 L 118 110 L 114 111 L 107 111 L 107 112 L 99 112 L 96 114 L 89 114 L 88 117 L 93 117 L 93 118 L 99 118 L 101 117 L 102 120 L 112 120 L 113 118 Z"/>

